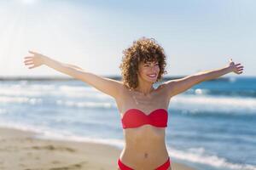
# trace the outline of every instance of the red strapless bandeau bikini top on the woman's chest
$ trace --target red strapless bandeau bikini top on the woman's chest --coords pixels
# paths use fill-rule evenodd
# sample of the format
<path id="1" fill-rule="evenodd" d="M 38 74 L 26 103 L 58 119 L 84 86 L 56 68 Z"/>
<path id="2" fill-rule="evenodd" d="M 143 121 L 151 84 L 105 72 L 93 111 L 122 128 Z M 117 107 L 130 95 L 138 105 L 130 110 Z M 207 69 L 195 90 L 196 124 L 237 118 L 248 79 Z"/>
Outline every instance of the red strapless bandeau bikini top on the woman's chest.
<path id="1" fill-rule="evenodd" d="M 141 127 L 150 124 L 154 127 L 167 127 L 168 112 L 165 109 L 156 109 L 146 115 L 138 109 L 125 111 L 122 117 L 123 128 Z"/>

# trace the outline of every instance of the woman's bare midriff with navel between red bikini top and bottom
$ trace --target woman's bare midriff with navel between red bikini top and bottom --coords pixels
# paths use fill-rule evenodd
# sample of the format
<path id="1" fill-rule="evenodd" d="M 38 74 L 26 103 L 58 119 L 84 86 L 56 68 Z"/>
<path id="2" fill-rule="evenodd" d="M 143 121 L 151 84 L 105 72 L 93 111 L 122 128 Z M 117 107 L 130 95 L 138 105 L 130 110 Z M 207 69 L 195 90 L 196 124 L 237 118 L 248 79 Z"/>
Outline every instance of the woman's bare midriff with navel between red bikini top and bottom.
<path id="1" fill-rule="evenodd" d="M 165 136 L 166 127 L 143 125 L 124 129 L 125 147 L 121 161 L 134 169 L 159 167 L 168 159 Z"/>

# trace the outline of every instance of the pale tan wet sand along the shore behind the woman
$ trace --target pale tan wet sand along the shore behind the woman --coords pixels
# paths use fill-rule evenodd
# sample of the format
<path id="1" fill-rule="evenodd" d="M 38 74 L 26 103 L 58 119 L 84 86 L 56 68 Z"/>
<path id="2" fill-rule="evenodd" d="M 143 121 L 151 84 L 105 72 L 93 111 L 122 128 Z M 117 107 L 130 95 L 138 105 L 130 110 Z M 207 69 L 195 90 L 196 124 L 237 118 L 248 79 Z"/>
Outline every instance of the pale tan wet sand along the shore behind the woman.
<path id="1" fill-rule="evenodd" d="M 36 139 L 36 133 L 0 128 L 1 170 L 118 169 L 121 153 L 108 144 Z M 172 162 L 172 170 L 193 170 Z"/>

